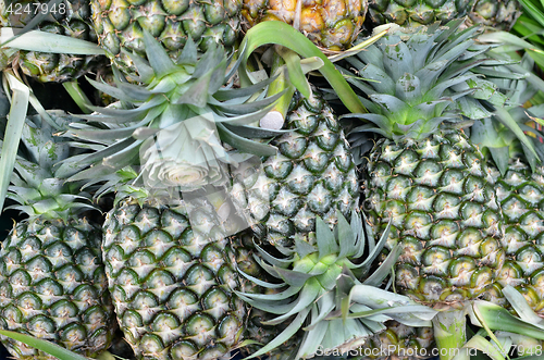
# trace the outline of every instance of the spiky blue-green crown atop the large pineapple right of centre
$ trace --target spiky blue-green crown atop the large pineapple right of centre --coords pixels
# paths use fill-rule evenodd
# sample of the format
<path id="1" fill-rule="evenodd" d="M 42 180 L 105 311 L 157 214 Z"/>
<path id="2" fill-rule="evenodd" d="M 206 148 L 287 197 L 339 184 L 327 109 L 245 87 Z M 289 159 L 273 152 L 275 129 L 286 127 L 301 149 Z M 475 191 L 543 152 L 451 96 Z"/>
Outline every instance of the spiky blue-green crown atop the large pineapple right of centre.
<path id="1" fill-rule="evenodd" d="M 370 122 L 355 133 L 375 132 L 395 141 L 420 140 L 441 127 L 465 126 L 463 115 L 475 120 L 490 114 L 473 99 L 477 89 L 493 87 L 474 71 L 486 63 L 480 55 L 490 46 L 475 44 L 478 27 L 459 32 L 461 23 L 393 28 L 366 51 L 347 58 L 355 73 L 342 71 L 368 97 L 361 101 L 369 113 L 347 115 Z M 479 96 L 504 101 L 499 95 Z"/>

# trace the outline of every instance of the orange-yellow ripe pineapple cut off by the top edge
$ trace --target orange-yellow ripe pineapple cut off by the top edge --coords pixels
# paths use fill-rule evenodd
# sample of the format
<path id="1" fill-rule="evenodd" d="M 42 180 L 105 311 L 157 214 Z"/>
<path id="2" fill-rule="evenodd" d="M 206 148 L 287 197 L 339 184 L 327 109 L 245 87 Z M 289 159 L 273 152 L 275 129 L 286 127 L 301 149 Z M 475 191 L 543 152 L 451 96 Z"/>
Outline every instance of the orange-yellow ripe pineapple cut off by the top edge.
<path id="1" fill-rule="evenodd" d="M 242 26 L 245 30 L 263 21 L 282 21 L 302 32 L 316 45 L 329 50 L 350 47 L 361 30 L 367 0 L 244 0 Z"/>

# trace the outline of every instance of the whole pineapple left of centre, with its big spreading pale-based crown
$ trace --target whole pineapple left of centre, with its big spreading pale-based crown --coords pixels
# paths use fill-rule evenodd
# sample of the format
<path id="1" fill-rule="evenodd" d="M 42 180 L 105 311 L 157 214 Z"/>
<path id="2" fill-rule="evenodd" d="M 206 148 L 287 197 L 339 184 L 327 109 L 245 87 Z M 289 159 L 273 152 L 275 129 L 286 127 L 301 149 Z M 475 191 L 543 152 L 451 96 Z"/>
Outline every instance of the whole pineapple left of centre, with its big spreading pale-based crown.
<path id="1" fill-rule="evenodd" d="M 238 228 L 221 195 L 235 154 L 221 136 L 272 152 L 235 134 L 274 98 L 247 103 L 247 89 L 224 86 L 231 73 L 221 46 L 199 55 L 188 40 L 174 64 L 149 33 L 144 41 L 149 62 L 133 57 L 140 85 L 119 72 L 116 87 L 92 82 L 122 102 L 94 108 L 88 123 L 73 124 L 72 135 L 96 152 L 62 170 L 74 174 L 71 181 L 106 182 L 97 196 L 116 191 L 102 247 L 118 320 L 136 357 L 217 359 L 240 345 L 247 316 L 234 295 L 237 246 L 227 239 Z"/>

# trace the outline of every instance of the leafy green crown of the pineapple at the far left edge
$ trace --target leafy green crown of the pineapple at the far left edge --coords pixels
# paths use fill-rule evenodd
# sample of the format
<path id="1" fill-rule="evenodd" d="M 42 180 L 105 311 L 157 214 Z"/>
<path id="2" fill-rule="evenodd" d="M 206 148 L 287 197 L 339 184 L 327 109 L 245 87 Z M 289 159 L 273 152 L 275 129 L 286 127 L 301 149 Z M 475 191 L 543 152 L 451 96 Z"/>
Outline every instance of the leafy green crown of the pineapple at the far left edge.
<path id="1" fill-rule="evenodd" d="M 48 113 L 58 124 L 66 122 L 67 116 L 62 111 Z M 26 119 L 15 171 L 8 188 L 8 198 L 18 204 L 7 209 L 21 210 L 30 218 L 64 220 L 81 211 L 95 209 L 88 203 L 90 195 L 82 193 L 78 184 L 65 183 L 58 176 L 58 165 L 74 149 L 66 138 L 54 136 L 53 131 L 39 115 Z"/>

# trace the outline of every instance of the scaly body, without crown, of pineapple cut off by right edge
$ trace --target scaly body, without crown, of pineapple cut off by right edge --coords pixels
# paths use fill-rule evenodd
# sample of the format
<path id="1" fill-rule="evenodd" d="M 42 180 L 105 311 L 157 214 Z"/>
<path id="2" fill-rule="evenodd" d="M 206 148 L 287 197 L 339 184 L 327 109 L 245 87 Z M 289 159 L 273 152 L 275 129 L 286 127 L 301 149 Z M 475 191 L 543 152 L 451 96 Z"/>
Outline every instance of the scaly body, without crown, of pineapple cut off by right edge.
<path id="1" fill-rule="evenodd" d="M 491 166 L 490 166 L 491 167 Z M 509 307 L 503 286 L 520 291 L 531 308 L 544 315 L 544 167 L 531 167 L 521 159 L 510 159 L 505 175 L 493 170 L 497 199 L 505 221 L 500 245 L 506 262 L 487 299 Z"/>

